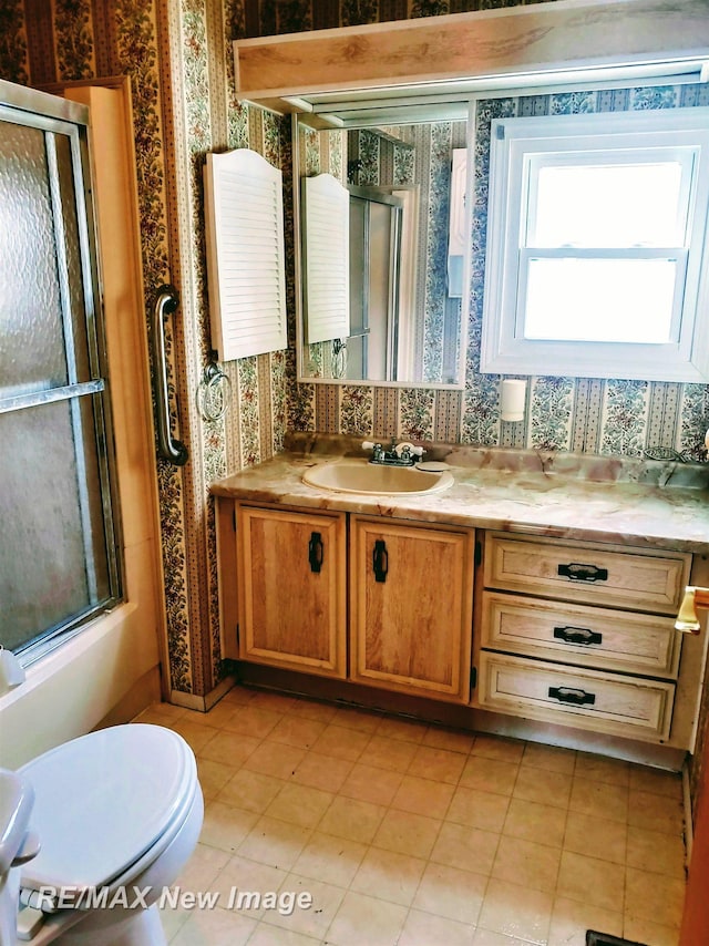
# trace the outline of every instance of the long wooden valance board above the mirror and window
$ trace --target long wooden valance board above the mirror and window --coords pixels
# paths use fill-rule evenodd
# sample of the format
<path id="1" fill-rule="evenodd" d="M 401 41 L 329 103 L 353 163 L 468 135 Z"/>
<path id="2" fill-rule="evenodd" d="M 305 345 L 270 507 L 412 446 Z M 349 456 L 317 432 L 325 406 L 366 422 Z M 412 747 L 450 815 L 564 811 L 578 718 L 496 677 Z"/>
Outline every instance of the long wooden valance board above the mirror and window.
<path id="1" fill-rule="evenodd" d="M 556 0 L 237 40 L 251 100 L 709 55 L 705 0 Z M 264 82 L 268 81 L 268 85 Z"/>

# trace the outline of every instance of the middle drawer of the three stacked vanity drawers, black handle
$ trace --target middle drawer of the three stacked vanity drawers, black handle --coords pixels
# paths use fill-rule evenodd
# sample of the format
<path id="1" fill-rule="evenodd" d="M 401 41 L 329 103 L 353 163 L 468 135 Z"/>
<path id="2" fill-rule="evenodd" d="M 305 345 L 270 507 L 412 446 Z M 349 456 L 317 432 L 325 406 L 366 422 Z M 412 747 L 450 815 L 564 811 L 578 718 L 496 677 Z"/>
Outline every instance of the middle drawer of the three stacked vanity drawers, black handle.
<path id="1" fill-rule="evenodd" d="M 674 619 L 484 592 L 481 646 L 585 667 L 677 677 Z"/>

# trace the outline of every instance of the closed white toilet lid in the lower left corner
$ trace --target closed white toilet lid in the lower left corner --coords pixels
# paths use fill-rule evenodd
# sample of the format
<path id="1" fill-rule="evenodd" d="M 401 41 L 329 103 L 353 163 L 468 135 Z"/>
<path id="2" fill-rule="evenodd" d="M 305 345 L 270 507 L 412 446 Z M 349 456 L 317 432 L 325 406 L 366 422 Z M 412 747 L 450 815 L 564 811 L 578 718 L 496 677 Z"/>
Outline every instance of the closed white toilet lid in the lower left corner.
<path id="1" fill-rule="evenodd" d="M 100 887 L 148 851 L 194 792 L 196 763 L 185 740 L 135 723 L 90 732 L 28 762 L 30 823 L 39 855 L 21 885 Z"/>

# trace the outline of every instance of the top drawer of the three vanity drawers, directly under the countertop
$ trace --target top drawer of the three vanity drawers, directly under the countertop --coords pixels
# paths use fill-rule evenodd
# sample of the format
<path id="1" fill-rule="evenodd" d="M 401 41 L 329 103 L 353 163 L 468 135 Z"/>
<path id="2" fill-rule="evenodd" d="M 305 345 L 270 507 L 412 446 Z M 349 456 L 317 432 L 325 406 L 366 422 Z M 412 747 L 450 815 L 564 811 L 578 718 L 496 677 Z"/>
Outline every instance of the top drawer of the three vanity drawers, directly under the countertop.
<path id="1" fill-rule="evenodd" d="M 485 587 L 675 615 L 690 555 L 487 533 Z"/>

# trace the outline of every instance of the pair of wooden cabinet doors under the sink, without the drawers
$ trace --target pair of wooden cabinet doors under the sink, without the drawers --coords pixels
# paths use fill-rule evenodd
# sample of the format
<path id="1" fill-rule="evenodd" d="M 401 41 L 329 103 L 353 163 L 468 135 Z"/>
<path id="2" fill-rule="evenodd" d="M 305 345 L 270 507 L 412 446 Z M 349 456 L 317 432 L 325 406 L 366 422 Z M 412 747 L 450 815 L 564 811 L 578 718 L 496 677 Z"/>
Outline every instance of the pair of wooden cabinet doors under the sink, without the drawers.
<path id="1" fill-rule="evenodd" d="M 224 605 L 238 610 L 228 656 L 467 703 L 473 529 L 350 514 L 348 548 L 346 513 L 235 503 L 230 545 L 227 508 L 219 504 L 225 641 Z"/>

